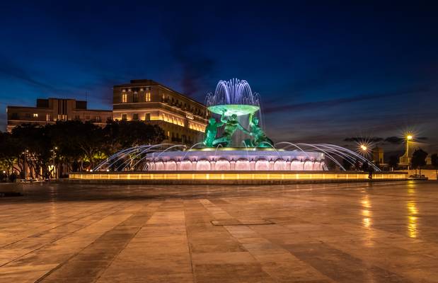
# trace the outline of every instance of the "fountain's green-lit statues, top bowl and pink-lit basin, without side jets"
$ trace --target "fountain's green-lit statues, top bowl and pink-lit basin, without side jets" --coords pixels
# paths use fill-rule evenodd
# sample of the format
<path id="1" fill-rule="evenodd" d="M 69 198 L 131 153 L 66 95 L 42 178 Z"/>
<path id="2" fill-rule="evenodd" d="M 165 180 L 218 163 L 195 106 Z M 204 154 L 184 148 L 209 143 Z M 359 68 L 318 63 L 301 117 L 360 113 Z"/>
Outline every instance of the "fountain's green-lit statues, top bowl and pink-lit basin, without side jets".
<path id="1" fill-rule="evenodd" d="M 260 100 L 247 81 L 219 81 L 207 95 L 204 141 L 185 151 L 146 154 L 148 171 L 322 171 L 324 154 L 276 149 L 260 126 Z M 246 120 L 246 121 L 245 121 Z M 245 123 L 246 122 L 246 123 Z M 248 125 L 248 126 L 246 126 Z"/>

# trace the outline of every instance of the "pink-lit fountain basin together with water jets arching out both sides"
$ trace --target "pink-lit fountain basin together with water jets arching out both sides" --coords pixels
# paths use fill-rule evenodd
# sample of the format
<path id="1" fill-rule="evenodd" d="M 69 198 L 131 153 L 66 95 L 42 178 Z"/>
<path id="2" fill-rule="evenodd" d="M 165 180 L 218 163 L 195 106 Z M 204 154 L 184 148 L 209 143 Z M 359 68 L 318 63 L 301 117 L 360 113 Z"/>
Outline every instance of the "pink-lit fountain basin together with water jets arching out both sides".
<path id="1" fill-rule="evenodd" d="M 279 142 L 278 149 L 224 148 L 187 149 L 184 145 L 134 146 L 119 151 L 100 163 L 94 172 L 117 171 L 327 171 L 325 159 L 344 158 L 355 165 L 368 162 L 364 156 L 333 144 L 292 144 Z M 183 149 L 183 150 L 181 150 Z"/>

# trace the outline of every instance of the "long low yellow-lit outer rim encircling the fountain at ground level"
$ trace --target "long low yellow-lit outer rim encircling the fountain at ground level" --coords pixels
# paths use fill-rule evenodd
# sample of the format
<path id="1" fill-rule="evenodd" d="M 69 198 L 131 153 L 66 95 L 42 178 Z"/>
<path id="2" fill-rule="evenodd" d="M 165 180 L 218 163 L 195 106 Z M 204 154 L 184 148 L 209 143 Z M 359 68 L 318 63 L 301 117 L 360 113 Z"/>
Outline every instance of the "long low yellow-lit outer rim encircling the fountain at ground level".
<path id="1" fill-rule="evenodd" d="M 370 180 L 364 172 L 328 171 L 153 171 L 70 173 L 69 181 L 79 183 L 130 184 L 289 184 L 340 183 L 406 180 L 406 173 L 374 173 Z"/>

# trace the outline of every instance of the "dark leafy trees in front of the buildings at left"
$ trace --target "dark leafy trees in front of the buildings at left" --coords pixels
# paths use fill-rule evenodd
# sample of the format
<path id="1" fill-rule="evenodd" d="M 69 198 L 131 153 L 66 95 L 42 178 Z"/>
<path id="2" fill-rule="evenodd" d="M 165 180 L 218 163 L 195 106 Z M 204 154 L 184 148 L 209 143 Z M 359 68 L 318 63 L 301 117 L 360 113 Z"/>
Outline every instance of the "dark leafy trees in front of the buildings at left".
<path id="1" fill-rule="evenodd" d="M 6 175 L 30 178 L 62 176 L 93 168 L 120 149 L 159 144 L 163 129 L 140 121 L 110 121 L 105 127 L 91 122 L 65 121 L 51 125 L 25 124 L 0 133 L 0 168 Z"/>

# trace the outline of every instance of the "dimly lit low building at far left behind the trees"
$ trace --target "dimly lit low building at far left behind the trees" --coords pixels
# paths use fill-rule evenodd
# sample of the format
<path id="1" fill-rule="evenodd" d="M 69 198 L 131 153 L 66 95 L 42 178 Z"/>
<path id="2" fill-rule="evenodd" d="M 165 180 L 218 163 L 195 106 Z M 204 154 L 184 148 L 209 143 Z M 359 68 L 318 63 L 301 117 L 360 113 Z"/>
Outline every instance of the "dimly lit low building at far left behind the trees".
<path id="1" fill-rule="evenodd" d="M 113 119 L 111 110 L 90 110 L 86 101 L 62 98 L 37 99 L 36 107 L 8 106 L 6 112 L 8 132 L 21 124 L 46 125 L 58 120 L 91 121 L 103 127 Z"/>

